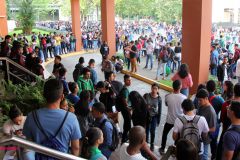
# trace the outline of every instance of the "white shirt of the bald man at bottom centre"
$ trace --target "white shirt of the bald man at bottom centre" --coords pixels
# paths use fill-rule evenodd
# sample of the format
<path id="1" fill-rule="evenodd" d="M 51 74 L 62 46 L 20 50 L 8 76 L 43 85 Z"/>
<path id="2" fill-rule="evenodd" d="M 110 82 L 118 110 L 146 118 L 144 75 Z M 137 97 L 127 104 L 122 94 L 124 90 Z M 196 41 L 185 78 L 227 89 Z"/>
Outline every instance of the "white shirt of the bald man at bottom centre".
<path id="1" fill-rule="evenodd" d="M 127 147 L 128 145 L 126 143 L 124 143 L 121 148 L 120 148 L 120 152 L 119 152 L 119 157 L 120 160 L 147 160 L 146 158 L 144 158 L 141 153 L 139 152 L 138 154 L 135 155 L 129 155 L 127 153 Z"/>

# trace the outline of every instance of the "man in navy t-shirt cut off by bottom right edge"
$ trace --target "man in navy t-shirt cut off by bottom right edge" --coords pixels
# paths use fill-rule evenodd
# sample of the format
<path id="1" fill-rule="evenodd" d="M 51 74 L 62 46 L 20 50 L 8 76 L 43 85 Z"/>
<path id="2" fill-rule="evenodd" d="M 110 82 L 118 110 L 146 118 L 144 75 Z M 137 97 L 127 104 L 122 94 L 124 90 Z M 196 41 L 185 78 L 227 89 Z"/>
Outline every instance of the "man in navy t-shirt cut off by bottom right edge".
<path id="1" fill-rule="evenodd" d="M 232 125 L 226 131 L 223 137 L 223 159 L 239 160 L 240 159 L 240 102 L 232 101 L 228 107 L 228 117 Z"/>

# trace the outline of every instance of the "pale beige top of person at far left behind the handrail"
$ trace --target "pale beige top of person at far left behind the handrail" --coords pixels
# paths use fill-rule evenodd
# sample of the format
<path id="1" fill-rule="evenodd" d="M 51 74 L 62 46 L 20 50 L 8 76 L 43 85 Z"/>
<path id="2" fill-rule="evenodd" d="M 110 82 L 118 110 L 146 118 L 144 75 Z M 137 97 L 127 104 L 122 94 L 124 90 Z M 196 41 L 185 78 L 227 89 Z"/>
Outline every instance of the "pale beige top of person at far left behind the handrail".
<path id="1" fill-rule="evenodd" d="M 12 134 L 17 130 L 22 130 L 23 125 L 25 123 L 25 120 L 26 120 L 26 116 L 23 116 L 23 120 L 22 120 L 22 123 L 20 125 L 14 124 L 11 119 L 7 120 L 3 125 L 3 133 Z"/>

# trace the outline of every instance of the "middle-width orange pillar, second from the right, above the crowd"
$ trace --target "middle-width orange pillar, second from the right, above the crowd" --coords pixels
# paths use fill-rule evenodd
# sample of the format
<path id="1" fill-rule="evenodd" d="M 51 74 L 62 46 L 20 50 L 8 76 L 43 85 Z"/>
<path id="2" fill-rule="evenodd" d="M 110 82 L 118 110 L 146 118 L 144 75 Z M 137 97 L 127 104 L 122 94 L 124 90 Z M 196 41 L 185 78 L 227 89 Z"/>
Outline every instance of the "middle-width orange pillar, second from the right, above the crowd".
<path id="1" fill-rule="evenodd" d="M 110 57 L 116 53 L 114 0 L 101 0 L 102 40 L 109 46 Z"/>

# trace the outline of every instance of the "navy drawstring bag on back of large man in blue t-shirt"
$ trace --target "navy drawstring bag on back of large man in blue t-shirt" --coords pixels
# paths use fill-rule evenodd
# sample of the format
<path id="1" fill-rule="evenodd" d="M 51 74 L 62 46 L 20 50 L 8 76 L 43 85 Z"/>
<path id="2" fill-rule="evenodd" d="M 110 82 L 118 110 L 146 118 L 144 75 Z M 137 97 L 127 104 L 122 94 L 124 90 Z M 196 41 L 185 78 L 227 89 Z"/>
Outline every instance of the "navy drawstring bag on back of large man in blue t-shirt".
<path id="1" fill-rule="evenodd" d="M 64 146 L 57 140 L 56 137 L 57 137 L 58 133 L 61 131 L 61 129 L 63 127 L 63 124 L 67 119 L 68 113 L 69 112 L 66 112 L 65 117 L 64 117 L 61 125 L 59 126 L 57 132 L 55 133 L 55 135 L 54 136 L 52 136 L 52 135 L 47 136 L 46 132 L 44 131 L 42 125 L 39 122 L 37 111 L 32 112 L 33 120 L 34 120 L 36 126 L 45 136 L 45 140 L 43 140 L 41 142 L 41 145 L 43 145 L 45 147 L 48 147 L 48 148 L 51 148 L 51 149 L 54 149 L 54 150 L 57 150 L 57 151 L 60 151 L 60 152 L 64 152 Z M 53 157 L 49 157 L 49 156 L 41 154 L 41 153 L 35 153 L 35 160 L 58 160 L 58 159 L 53 158 Z"/>

